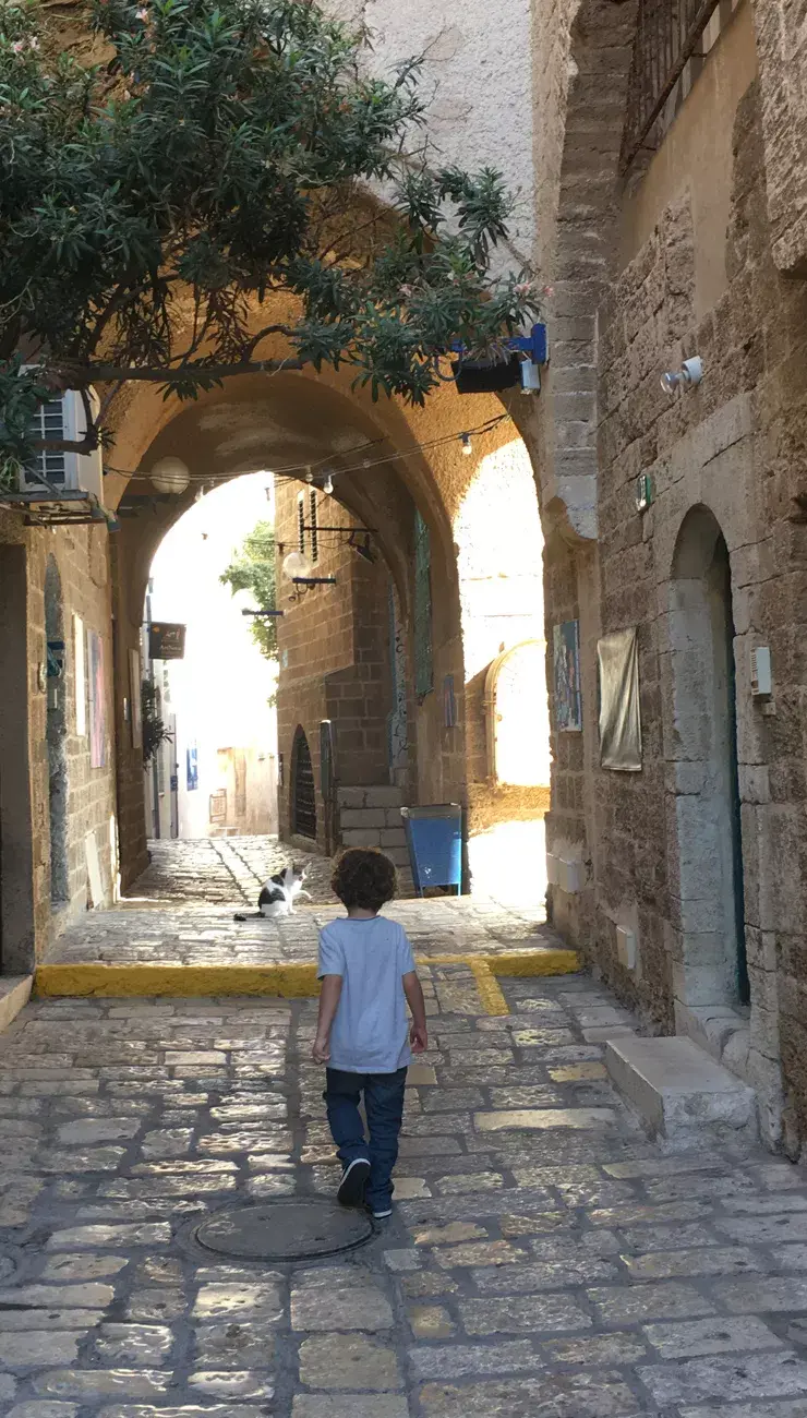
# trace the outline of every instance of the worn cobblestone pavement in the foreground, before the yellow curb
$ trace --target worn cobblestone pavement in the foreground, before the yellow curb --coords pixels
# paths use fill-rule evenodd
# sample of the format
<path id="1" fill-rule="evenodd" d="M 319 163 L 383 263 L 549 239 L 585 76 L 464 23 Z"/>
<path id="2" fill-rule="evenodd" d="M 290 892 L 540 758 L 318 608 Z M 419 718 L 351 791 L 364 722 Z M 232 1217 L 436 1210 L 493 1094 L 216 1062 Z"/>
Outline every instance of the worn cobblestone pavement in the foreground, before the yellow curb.
<path id="1" fill-rule="evenodd" d="M 227 1263 L 206 1214 L 330 1194 L 315 1001 L 41 1001 L 0 1038 L 7 1418 L 806 1418 L 807 1174 L 662 1157 L 584 977 L 424 968 L 399 1205 L 343 1259 Z"/>

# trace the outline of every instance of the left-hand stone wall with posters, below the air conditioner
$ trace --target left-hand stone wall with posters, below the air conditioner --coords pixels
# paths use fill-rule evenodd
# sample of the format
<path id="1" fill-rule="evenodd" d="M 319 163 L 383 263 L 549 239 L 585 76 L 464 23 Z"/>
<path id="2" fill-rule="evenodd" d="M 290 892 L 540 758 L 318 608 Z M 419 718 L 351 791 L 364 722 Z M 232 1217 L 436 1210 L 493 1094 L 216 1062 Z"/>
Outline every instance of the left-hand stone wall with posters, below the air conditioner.
<path id="1" fill-rule="evenodd" d="M 20 516 L 0 513 L 0 562 L 13 604 L 4 607 L 0 658 L 9 654 L 4 682 L 3 757 L 13 777 L 1 797 L 3 832 L 3 968 L 24 971 L 41 959 L 54 934 L 88 906 L 85 841 L 94 834 L 102 876 L 102 903 L 112 899 L 116 875 L 116 801 L 112 722 L 112 623 L 105 527 L 27 529 Z M 45 644 L 45 576 L 61 591 L 65 655 L 58 691 L 64 720 L 62 769 L 64 864 L 51 900 L 51 813 L 48 761 L 48 692 Z M 14 576 L 9 579 L 10 567 Z M 84 686 L 85 732 L 77 732 L 75 617 L 84 635 L 96 631 L 104 647 L 106 702 L 105 764 L 91 767 L 89 683 Z M 23 627 L 20 630 L 20 627 Z M 24 641 L 23 641 L 24 635 Z M 26 664 L 23 666 L 23 648 Z M 87 676 L 89 676 L 89 664 Z M 52 713 L 52 712 L 51 712 Z M 27 732 L 23 725 L 27 719 Z M 52 727 L 52 720 L 51 720 Z M 26 763 L 27 759 L 27 763 Z M 16 790 L 9 788 L 16 783 Z M 9 851 L 9 847 L 11 851 Z M 101 905 L 101 902 L 95 902 Z"/>

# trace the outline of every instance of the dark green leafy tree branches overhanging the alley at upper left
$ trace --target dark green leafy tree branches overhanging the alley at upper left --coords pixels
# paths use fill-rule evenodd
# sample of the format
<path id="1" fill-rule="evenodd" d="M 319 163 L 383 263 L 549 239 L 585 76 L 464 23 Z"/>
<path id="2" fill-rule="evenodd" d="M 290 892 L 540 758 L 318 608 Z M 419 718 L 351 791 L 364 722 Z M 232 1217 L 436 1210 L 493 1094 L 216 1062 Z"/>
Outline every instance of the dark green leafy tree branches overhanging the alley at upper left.
<path id="1" fill-rule="evenodd" d="M 98 447 L 132 380 L 187 400 L 347 366 L 423 404 L 452 343 L 491 353 L 535 318 L 526 274 L 491 275 L 499 174 L 428 164 L 417 60 L 372 77 L 369 34 L 312 0 L 88 6 L 95 67 L 48 43 L 35 0 L 0 9 L 6 465 Z M 33 438 L 62 389 L 87 437 Z"/>

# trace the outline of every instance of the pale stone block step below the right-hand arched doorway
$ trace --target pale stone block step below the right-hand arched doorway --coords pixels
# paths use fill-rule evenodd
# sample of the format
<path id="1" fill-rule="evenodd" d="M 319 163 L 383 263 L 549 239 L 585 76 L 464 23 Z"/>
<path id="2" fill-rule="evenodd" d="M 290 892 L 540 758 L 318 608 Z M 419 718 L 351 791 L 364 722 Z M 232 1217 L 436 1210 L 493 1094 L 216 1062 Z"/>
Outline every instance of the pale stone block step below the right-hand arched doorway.
<path id="1" fill-rule="evenodd" d="M 668 1150 L 756 1124 L 755 1093 L 692 1039 L 611 1038 L 606 1066 L 651 1137 Z"/>

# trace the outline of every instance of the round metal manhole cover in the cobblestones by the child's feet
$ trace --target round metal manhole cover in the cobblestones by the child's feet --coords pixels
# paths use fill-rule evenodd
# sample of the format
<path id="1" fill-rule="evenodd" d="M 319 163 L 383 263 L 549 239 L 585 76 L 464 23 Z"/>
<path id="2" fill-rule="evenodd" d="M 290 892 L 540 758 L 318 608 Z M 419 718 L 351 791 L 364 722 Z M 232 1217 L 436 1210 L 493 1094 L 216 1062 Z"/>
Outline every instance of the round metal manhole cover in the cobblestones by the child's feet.
<path id="1" fill-rule="evenodd" d="M 338 1255 L 363 1245 L 372 1235 L 373 1222 L 366 1212 L 315 1198 L 218 1211 L 196 1229 L 196 1239 L 206 1251 L 241 1261 L 308 1261 Z"/>

